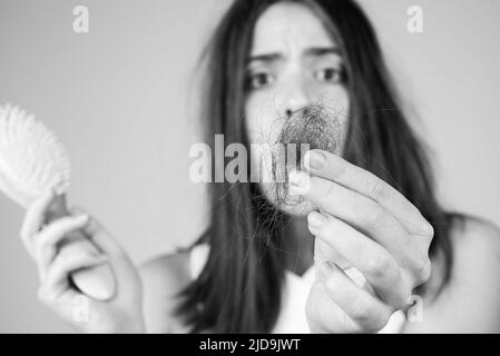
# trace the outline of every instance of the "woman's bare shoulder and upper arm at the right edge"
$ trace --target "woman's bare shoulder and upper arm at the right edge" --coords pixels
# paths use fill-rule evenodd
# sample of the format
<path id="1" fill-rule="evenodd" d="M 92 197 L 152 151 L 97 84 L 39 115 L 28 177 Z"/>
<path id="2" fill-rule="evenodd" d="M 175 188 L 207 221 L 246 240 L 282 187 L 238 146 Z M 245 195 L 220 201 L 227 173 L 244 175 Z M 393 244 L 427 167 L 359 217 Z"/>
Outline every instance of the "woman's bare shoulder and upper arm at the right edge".
<path id="1" fill-rule="evenodd" d="M 453 234 L 450 284 L 432 300 L 424 297 L 422 322 L 409 322 L 404 333 L 500 333 L 500 230 L 469 218 Z M 431 285 L 439 284 L 439 261 Z"/>

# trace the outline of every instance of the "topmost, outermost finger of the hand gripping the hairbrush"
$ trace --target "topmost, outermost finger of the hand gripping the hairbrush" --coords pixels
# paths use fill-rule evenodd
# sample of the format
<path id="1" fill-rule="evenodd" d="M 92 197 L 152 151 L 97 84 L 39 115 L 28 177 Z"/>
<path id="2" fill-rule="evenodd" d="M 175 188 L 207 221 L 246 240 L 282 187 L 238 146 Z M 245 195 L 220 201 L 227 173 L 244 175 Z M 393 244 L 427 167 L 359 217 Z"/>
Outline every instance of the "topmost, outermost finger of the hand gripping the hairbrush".
<path id="1" fill-rule="evenodd" d="M 31 246 L 31 239 L 41 229 L 41 226 L 46 219 L 46 210 L 53 200 L 53 191 L 48 190 L 43 196 L 35 200 L 26 211 L 20 236 L 22 243 L 32 257 L 35 257 L 35 253 Z"/>

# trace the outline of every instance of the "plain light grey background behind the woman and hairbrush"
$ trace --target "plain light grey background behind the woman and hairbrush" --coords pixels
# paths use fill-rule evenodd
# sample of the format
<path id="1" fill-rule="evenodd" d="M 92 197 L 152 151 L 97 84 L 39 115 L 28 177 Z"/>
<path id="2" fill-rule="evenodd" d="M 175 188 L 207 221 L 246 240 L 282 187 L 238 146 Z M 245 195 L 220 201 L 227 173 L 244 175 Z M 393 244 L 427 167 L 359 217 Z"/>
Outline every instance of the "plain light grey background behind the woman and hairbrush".
<path id="1" fill-rule="evenodd" d="M 137 264 L 205 227 L 204 187 L 188 179 L 199 141 L 193 71 L 228 2 L 0 0 L 0 103 L 21 105 L 57 132 L 72 161 L 70 204 Z M 89 33 L 72 31 L 77 4 L 89 9 Z M 362 4 L 434 150 L 443 201 L 500 225 L 500 2 Z M 424 28 L 411 34 L 415 4 Z M 0 332 L 70 332 L 36 297 L 23 214 L 0 196 Z"/>

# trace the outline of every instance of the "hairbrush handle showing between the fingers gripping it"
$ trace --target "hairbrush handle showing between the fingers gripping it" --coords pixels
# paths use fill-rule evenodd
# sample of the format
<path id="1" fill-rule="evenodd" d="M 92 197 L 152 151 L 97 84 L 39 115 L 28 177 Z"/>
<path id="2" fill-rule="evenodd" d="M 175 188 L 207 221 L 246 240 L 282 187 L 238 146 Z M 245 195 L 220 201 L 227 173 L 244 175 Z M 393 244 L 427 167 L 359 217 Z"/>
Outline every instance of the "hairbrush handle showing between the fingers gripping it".
<path id="1" fill-rule="evenodd" d="M 66 195 L 56 195 L 53 201 L 47 210 L 47 222 L 55 219 L 69 216 Z M 68 235 L 62 244 L 58 247 L 60 250 L 65 249 L 66 246 L 75 246 L 75 244 L 80 245 L 79 248 L 85 249 L 89 253 L 99 254 L 98 247 L 92 244 L 89 237 L 85 235 L 84 231 L 78 230 Z M 98 265 L 90 268 L 79 269 L 71 274 L 70 276 L 75 286 L 87 296 L 98 299 L 108 300 L 115 295 L 115 277 L 109 264 Z"/>

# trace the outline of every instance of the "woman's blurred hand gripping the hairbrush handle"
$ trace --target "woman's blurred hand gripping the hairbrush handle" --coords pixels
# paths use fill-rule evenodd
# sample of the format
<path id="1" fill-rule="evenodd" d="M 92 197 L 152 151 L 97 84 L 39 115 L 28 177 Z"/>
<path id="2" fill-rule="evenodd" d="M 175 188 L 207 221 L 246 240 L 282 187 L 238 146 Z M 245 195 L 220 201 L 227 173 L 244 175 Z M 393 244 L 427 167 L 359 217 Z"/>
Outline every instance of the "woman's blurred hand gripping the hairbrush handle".
<path id="1" fill-rule="evenodd" d="M 139 275 L 126 253 L 107 231 L 81 209 L 71 216 L 43 226 L 53 192 L 48 192 L 28 209 L 21 229 L 26 248 L 35 259 L 40 276 L 39 298 L 63 320 L 86 333 L 141 333 L 143 288 Z M 67 241 L 68 235 L 82 230 L 100 250 L 88 244 Z M 107 263 L 110 265 L 116 293 L 110 300 L 92 299 L 77 290 L 69 275 L 78 269 Z"/>

